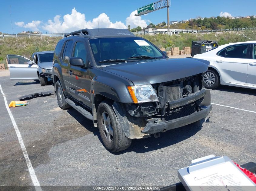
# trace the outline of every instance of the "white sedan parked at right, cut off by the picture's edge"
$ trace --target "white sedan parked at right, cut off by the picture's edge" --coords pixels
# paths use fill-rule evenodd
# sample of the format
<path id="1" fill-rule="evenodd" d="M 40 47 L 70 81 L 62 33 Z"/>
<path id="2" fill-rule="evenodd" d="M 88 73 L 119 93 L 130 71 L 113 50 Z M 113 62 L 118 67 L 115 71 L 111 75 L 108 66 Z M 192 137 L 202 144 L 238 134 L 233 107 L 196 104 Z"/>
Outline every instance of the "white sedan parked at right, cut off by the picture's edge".
<path id="1" fill-rule="evenodd" d="M 256 41 L 221 45 L 193 58 L 210 61 L 203 77 L 208 89 L 220 84 L 256 89 Z"/>

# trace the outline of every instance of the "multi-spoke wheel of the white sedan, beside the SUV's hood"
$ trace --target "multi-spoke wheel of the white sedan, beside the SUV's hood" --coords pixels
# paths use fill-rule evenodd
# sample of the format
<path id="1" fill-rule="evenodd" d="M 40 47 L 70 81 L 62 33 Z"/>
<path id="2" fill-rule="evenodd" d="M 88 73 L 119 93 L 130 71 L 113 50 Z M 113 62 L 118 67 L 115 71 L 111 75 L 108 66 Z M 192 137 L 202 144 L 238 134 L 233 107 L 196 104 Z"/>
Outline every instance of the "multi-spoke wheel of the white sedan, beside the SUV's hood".
<path id="1" fill-rule="evenodd" d="M 214 81 L 213 81 L 214 80 Z M 220 86 L 220 78 L 214 70 L 207 70 L 203 77 L 204 87 L 208 89 L 215 89 Z"/>

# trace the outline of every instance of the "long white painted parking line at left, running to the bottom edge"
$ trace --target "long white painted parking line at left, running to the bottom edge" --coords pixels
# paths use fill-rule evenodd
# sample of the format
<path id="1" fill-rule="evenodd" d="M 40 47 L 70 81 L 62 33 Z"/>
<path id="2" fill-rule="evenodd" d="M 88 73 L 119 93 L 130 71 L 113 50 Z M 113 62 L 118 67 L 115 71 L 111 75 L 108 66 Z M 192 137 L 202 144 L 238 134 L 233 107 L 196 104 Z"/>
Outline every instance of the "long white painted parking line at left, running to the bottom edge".
<path id="1" fill-rule="evenodd" d="M 36 177 L 36 175 L 35 175 L 35 171 L 34 171 L 34 169 L 33 169 L 33 167 L 32 167 L 32 164 L 31 164 L 31 162 L 30 162 L 30 159 L 29 159 L 29 157 L 28 157 L 28 152 L 27 152 L 26 147 L 25 147 L 25 145 L 24 145 L 24 142 L 23 142 L 23 139 L 22 139 L 22 137 L 21 137 L 21 134 L 20 134 L 20 131 L 19 131 L 19 129 L 18 129 L 18 126 L 17 126 L 17 124 L 16 124 L 16 122 L 15 122 L 15 120 L 14 120 L 14 117 L 13 117 L 13 115 L 12 115 L 11 110 L 10 110 L 9 107 L 8 107 L 7 100 L 6 100 L 6 97 L 5 97 L 5 94 L 4 94 L 4 92 L 3 92 L 3 89 L 2 89 L 1 84 L 0 84 L 0 90 L 1 90 L 1 93 L 2 93 L 2 95 L 3 95 L 3 97 L 4 97 L 4 100 L 5 100 L 5 107 L 6 107 L 7 111 L 8 111 L 8 113 L 9 113 L 9 116 L 10 116 L 11 120 L 12 120 L 13 127 L 14 127 L 14 129 L 15 129 L 15 132 L 16 132 L 16 134 L 17 134 L 17 137 L 18 137 L 18 140 L 19 140 L 19 143 L 20 143 L 20 147 L 21 147 L 22 152 L 23 152 L 23 155 L 24 155 L 24 157 L 25 157 L 25 160 L 26 160 L 26 163 L 27 163 L 27 166 L 28 166 L 28 171 L 29 171 L 30 177 L 31 177 L 31 179 L 32 179 L 33 185 L 35 186 L 36 191 L 42 191 L 42 188 L 41 188 L 41 186 L 40 186 L 40 184 L 39 184 L 39 182 L 38 182 L 38 179 L 37 179 L 37 177 Z"/>

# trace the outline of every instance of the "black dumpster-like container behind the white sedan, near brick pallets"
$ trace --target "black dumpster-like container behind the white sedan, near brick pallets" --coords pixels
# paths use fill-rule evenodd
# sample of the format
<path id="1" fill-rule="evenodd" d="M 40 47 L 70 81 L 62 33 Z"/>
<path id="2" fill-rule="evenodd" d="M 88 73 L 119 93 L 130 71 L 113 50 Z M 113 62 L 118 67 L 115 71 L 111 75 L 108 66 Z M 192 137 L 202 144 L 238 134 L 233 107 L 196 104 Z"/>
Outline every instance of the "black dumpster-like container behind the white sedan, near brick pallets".
<path id="1" fill-rule="evenodd" d="M 205 53 L 217 47 L 218 47 L 218 43 L 216 41 L 210 41 L 210 40 L 192 41 L 191 56 L 193 57 L 196 54 Z"/>

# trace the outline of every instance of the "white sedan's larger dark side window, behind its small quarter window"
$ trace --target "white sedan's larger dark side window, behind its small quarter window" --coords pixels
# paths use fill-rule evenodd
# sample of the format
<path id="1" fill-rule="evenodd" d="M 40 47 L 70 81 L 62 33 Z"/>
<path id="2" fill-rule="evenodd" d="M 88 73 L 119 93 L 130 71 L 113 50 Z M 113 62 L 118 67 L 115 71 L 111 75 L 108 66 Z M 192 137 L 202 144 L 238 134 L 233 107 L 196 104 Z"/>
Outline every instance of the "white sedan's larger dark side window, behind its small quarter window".
<path id="1" fill-rule="evenodd" d="M 228 46 L 226 50 L 226 58 L 246 58 L 248 44 L 238 44 Z"/>

